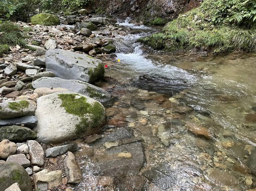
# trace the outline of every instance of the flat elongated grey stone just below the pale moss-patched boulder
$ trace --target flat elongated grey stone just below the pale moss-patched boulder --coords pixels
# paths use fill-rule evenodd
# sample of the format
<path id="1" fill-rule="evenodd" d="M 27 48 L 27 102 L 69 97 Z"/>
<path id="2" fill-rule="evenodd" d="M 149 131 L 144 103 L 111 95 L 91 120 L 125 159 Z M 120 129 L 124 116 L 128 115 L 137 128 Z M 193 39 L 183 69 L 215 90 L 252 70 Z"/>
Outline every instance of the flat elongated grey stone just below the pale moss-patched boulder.
<path id="1" fill-rule="evenodd" d="M 72 144 L 66 144 L 63 146 L 58 146 L 58 147 L 52 147 L 49 148 L 45 151 L 46 157 L 56 157 L 59 155 L 62 155 L 66 152 L 74 152 L 78 149 L 78 145 L 76 143 Z"/>

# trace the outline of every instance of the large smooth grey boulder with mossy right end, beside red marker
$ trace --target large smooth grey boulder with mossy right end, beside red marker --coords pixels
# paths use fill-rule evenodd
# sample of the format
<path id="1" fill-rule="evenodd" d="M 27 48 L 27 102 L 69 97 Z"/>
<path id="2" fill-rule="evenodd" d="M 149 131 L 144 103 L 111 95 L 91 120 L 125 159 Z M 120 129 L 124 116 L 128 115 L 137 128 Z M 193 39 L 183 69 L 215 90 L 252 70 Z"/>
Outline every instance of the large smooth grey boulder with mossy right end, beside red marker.
<path id="1" fill-rule="evenodd" d="M 48 50 L 45 64 L 46 71 L 52 71 L 56 77 L 67 80 L 93 83 L 104 76 L 104 67 L 100 60 L 67 50 Z"/>

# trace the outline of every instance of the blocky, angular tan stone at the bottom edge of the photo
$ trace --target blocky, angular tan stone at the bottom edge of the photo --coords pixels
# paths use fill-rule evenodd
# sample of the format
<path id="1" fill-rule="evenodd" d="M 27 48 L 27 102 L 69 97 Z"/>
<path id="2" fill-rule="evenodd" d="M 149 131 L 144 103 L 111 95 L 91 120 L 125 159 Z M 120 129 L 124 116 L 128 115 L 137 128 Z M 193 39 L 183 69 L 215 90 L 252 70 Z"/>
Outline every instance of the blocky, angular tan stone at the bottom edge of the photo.
<path id="1" fill-rule="evenodd" d="M 53 190 L 55 187 L 61 184 L 62 171 L 55 170 L 48 172 L 47 169 L 42 170 L 33 175 L 33 181 L 35 189 L 39 190 Z"/>

